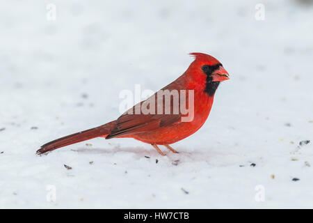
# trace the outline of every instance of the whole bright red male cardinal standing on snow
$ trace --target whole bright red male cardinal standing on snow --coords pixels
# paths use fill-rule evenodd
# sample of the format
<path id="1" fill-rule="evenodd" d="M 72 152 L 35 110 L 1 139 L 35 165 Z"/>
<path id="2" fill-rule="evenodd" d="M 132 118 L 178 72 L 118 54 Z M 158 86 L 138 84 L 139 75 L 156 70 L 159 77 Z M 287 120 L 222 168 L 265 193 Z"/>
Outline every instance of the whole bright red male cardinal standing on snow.
<path id="1" fill-rule="evenodd" d="M 105 137 L 106 139 L 123 137 L 134 138 L 151 144 L 161 155 L 164 155 L 164 153 L 157 145 L 166 146 L 173 153 L 177 153 L 169 144 L 182 140 L 201 128 L 209 116 L 218 85 L 220 82 L 229 79 L 227 71 L 213 56 L 202 53 L 191 53 L 191 55 L 195 56 L 195 60 L 191 63 L 186 72 L 174 82 L 160 90 L 177 90 L 178 92 L 181 92 L 181 90 L 188 92 L 190 92 L 190 90 L 193 91 L 193 111 L 189 110 L 189 113 L 193 112 L 193 117 L 190 121 L 182 121 L 182 118 L 186 117 L 186 114 L 182 112 L 174 114 L 172 112 L 175 109 L 174 106 L 177 106 L 174 105 L 174 99 L 170 98 L 170 103 L 167 105 L 166 103 L 158 105 L 159 101 L 156 100 L 156 108 L 168 108 L 171 113 L 136 114 L 135 112 L 134 114 L 134 109 L 136 109 L 135 105 L 130 109 L 133 112 L 129 112 L 129 110 L 115 121 L 50 141 L 41 146 L 37 154 L 47 153 L 56 148 L 76 144 L 80 141 L 96 137 Z M 155 95 L 157 95 L 157 93 L 152 96 Z M 191 95 L 191 93 L 188 93 L 188 95 Z M 144 105 L 146 101 L 147 100 L 144 100 L 139 104 Z M 190 101 L 190 98 L 186 96 L 186 99 L 182 101 L 186 104 L 186 102 Z M 180 104 L 182 104 L 182 101 L 179 101 Z M 152 104 L 147 107 L 150 106 L 152 106 Z"/>

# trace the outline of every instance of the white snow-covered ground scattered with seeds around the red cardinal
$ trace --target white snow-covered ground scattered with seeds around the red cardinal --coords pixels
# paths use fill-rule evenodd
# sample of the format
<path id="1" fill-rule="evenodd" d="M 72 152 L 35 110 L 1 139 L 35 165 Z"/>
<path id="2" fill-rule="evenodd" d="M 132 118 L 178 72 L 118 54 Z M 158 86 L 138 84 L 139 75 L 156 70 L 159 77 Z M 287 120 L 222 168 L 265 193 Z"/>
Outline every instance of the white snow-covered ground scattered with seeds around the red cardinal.
<path id="1" fill-rule="evenodd" d="M 312 13 L 286 0 L 1 3 L 0 208 L 313 208 Z M 181 153 L 93 139 L 35 155 L 117 118 L 120 91 L 172 82 L 189 52 L 231 79 Z"/>

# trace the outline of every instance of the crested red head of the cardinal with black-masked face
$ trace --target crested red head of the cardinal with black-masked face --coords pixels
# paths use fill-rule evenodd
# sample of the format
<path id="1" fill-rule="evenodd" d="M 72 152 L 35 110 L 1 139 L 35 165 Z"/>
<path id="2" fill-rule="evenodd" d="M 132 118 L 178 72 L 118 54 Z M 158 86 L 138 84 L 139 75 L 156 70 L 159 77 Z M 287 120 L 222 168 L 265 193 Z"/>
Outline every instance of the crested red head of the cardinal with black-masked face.
<path id="1" fill-rule="evenodd" d="M 191 64 L 192 70 L 201 75 L 206 75 L 207 82 L 223 82 L 230 79 L 230 75 L 223 68 L 222 63 L 213 56 L 202 53 L 191 53 L 195 61 Z"/>

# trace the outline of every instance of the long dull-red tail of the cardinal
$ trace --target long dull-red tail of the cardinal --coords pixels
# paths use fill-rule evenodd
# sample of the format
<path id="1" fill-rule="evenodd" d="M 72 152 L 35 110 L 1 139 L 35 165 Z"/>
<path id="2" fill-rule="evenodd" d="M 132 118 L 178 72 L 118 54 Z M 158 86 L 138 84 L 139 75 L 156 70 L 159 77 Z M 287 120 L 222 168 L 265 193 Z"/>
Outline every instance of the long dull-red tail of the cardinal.
<path id="1" fill-rule="evenodd" d="M 101 125 L 90 130 L 77 132 L 74 134 L 67 135 L 66 137 L 50 141 L 47 144 L 41 146 L 36 153 L 38 155 L 41 155 L 50 151 L 54 151 L 57 148 L 69 146 L 71 144 L 76 144 L 78 142 L 86 141 L 88 139 L 93 139 L 96 137 L 106 137 L 108 134 L 110 134 L 111 130 L 115 127 L 115 125 L 116 125 L 115 121 L 112 121 L 111 123 L 106 123 L 105 125 Z"/>

